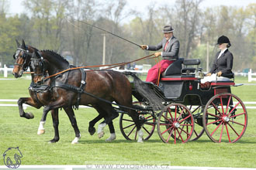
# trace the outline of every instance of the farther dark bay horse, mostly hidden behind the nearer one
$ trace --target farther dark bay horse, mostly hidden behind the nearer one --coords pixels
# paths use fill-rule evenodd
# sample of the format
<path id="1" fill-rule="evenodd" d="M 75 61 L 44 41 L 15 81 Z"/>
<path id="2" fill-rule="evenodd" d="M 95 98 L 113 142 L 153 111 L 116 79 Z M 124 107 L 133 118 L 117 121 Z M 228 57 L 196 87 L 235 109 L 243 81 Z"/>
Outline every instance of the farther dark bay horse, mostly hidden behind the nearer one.
<path id="1" fill-rule="evenodd" d="M 24 40 L 22 40 L 22 44 L 20 45 L 19 42 L 16 40 L 18 49 L 16 50 L 16 53 L 14 55 L 14 58 L 16 59 L 16 63 L 14 66 L 14 69 L 12 70 L 12 74 L 18 78 L 22 76 L 23 71 L 27 69 L 27 67 L 30 68 L 31 71 L 33 71 L 32 67 L 30 66 L 31 62 L 31 56 L 33 52 L 38 49 L 32 47 L 32 46 L 26 46 Z M 32 113 L 25 113 L 22 107 L 22 104 L 28 104 L 32 107 L 36 107 L 39 109 L 40 107 L 46 105 L 49 103 L 49 100 L 51 98 L 51 93 L 49 90 L 44 90 L 43 88 L 38 89 L 38 87 L 48 87 L 50 84 L 50 80 L 47 80 L 43 83 L 43 86 L 36 86 L 35 83 L 33 83 L 33 77 L 34 74 L 31 74 L 32 76 L 32 83 L 29 87 L 29 94 L 30 97 L 21 97 L 18 100 L 19 105 L 19 115 L 20 117 L 26 117 L 27 119 L 32 119 L 34 116 Z M 37 88 L 37 90 L 36 90 Z M 72 109 L 72 108 L 70 108 Z M 70 110 L 69 109 L 69 110 Z M 99 108 L 100 110 L 100 108 Z M 59 134 L 58 134 L 58 110 L 54 109 L 51 110 L 53 124 L 54 124 L 54 139 L 50 140 L 51 143 L 59 141 Z M 95 133 L 94 125 L 104 117 L 104 114 L 99 114 L 98 117 L 95 117 L 92 121 L 89 122 L 89 128 L 88 131 L 91 135 Z M 45 124 L 46 120 L 40 121 L 40 126 L 38 128 L 37 134 L 43 134 L 45 132 L 45 129 L 43 128 L 43 125 Z M 106 139 L 106 141 L 112 141 L 116 138 L 115 129 L 112 125 L 112 122 L 109 123 L 109 131 L 111 133 L 110 137 Z"/>

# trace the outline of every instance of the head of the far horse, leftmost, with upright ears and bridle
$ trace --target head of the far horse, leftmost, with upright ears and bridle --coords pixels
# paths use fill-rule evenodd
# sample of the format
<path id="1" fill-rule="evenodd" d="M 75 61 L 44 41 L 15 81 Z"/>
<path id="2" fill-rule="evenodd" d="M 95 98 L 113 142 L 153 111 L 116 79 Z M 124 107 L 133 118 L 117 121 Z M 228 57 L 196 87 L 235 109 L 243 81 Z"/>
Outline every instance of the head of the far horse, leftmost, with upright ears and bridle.
<path id="1" fill-rule="evenodd" d="M 28 69 L 34 48 L 31 46 L 26 46 L 24 39 L 22 39 L 22 44 L 20 44 L 17 40 L 16 43 L 17 49 L 13 55 L 13 59 L 16 59 L 16 61 L 12 74 L 18 78 L 22 76 L 22 73 Z"/>

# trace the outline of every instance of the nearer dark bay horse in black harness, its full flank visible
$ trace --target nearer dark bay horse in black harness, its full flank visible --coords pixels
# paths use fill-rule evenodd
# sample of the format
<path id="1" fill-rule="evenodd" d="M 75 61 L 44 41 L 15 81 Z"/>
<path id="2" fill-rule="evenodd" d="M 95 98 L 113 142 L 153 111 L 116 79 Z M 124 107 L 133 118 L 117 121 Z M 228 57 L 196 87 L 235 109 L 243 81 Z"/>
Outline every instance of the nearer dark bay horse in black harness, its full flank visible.
<path id="1" fill-rule="evenodd" d="M 43 71 L 47 70 L 49 75 L 55 75 L 70 68 L 67 60 L 53 51 L 43 50 L 39 53 L 35 51 L 35 54 L 37 59 L 32 60 L 33 70 L 35 71 L 33 80 L 35 83 L 43 81 Z M 74 89 L 81 87 L 83 71 L 78 69 L 69 70 L 50 77 L 50 89 L 54 100 L 44 107 L 43 117 L 47 117 L 49 110 L 73 106 L 78 102 L 78 91 Z M 118 113 L 112 107 L 112 104 L 106 102 L 106 100 L 115 101 L 116 104 L 124 106 L 120 108 L 132 117 L 138 129 L 138 141 L 142 142 L 142 121 L 139 120 L 137 111 L 130 108 L 133 107 L 132 88 L 126 76 L 113 70 L 86 71 L 85 82 L 86 85 L 83 87 L 83 90 L 86 93 L 81 93 L 80 104 L 95 107 L 99 112 L 104 111 L 107 114 L 105 121 L 99 124 L 99 136 L 104 134 L 106 124 L 109 124 L 110 121 L 118 117 Z"/>

